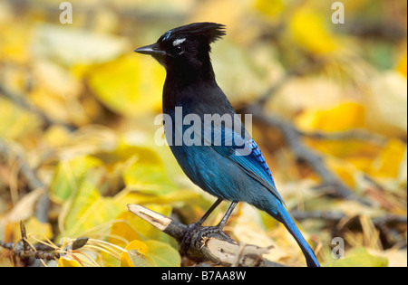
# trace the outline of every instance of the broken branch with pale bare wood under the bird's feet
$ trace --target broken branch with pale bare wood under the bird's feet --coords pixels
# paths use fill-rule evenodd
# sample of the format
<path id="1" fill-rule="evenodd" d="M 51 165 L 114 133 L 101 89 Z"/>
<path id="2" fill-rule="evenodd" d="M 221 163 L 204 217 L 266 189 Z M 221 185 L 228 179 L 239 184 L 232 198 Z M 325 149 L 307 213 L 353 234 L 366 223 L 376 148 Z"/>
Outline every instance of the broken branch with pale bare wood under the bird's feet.
<path id="1" fill-rule="evenodd" d="M 161 232 L 169 234 L 179 243 L 182 241 L 183 233 L 187 227 L 185 224 L 174 221 L 138 204 L 128 204 L 128 209 L 144 221 L 151 223 Z M 198 232 L 192 235 L 187 253 L 192 260 L 211 261 L 224 266 L 284 266 L 272 261 L 266 261 L 263 258 L 263 254 L 269 252 L 269 250 L 270 248 L 260 248 L 251 244 L 239 245 L 238 242 L 233 241 L 223 232 Z"/>

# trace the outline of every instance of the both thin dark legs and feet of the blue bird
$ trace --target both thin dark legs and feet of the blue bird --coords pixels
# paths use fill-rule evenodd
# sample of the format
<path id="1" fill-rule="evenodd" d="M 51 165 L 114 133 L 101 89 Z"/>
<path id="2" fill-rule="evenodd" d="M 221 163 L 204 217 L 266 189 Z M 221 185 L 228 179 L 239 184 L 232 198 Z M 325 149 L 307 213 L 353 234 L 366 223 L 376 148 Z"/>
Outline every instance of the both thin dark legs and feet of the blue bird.
<path id="1" fill-rule="evenodd" d="M 234 211 L 235 207 L 237 206 L 238 202 L 232 202 L 227 210 L 227 213 L 224 215 L 224 217 L 221 219 L 219 224 L 216 226 L 202 226 L 202 223 L 209 217 L 209 214 L 211 214 L 212 211 L 221 203 L 222 199 L 218 199 L 216 203 L 214 203 L 210 208 L 209 211 L 207 211 L 206 214 L 204 214 L 197 223 L 191 223 L 187 226 L 183 238 L 181 239 L 181 252 L 187 252 L 189 250 L 190 243 L 192 241 L 192 237 L 196 234 L 199 233 L 200 236 L 206 236 L 209 235 L 210 233 L 221 233 L 222 235 L 225 236 L 226 239 L 230 239 L 228 234 L 222 232 L 222 229 L 224 228 L 225 224 L 228 221 L 229 216 L 232 214 Z"/>

